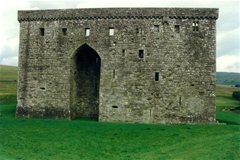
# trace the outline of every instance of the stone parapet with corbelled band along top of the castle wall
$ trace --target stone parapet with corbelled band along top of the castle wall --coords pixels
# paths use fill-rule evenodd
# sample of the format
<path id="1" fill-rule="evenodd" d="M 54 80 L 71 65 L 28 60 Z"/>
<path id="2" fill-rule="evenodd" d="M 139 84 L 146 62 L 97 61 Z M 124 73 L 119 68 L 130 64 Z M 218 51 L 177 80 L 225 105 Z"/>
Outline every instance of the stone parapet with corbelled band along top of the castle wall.
<path id="1" fill-rule="evenodd" d="M 217 19 L 216 8 L 89 8 L 18 11 L 18 21 L 82 19 Z"/>

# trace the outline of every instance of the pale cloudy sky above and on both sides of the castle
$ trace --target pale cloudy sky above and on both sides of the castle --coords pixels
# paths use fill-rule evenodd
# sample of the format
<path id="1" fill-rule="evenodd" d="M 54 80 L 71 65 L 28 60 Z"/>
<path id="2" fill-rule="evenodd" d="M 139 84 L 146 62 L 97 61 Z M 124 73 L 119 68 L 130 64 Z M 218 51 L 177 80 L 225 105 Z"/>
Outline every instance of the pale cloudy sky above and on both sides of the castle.
<path id="1" fill-rule="evenodd" d="M 2 0 L 0 2 L 0 64 L 18 65 L 18 10 L 107 7 L 219 8 L 217 71 L 240 73 L 240 0 Z"/>

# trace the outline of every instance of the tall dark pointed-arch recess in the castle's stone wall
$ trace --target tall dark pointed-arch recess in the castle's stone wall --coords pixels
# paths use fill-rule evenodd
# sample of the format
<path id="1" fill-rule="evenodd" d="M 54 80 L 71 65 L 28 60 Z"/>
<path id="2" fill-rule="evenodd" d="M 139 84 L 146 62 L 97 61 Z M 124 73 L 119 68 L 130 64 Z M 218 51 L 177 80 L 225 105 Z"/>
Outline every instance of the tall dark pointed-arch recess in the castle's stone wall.
<path id="1" fill-rule="evenodd" d="M 98 119 L 101 58 L 87 44 L 72 57 L 71 118 Z"/>

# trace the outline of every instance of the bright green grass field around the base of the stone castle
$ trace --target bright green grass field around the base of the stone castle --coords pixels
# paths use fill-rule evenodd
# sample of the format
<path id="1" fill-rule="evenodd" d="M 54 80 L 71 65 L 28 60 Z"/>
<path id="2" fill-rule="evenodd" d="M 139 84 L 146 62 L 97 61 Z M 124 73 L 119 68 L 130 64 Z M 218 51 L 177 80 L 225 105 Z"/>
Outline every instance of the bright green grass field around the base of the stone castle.
<path id="1" fill-rule="evenodd" d="M 240 159 L 240 125 L 232 125 L 240 124 L 239 114 L 229 110 L 239 101 L 231 99 L 231 87 L 217 87 L 217 118 L 231 125 L 171 126 L 15 119 L 16 94 L 3 87 L 0 160 Z"/>

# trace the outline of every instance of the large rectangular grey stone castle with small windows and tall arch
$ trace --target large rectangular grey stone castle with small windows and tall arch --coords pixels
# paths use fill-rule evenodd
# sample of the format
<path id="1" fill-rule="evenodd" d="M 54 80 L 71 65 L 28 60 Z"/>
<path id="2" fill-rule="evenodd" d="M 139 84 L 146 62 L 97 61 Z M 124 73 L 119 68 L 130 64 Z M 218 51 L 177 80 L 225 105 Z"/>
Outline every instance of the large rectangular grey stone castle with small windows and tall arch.
<path id="1" fill-rule="evenodd" d="M 215 123 L 218 9 L 19 11 L 17 117 Z"/>

